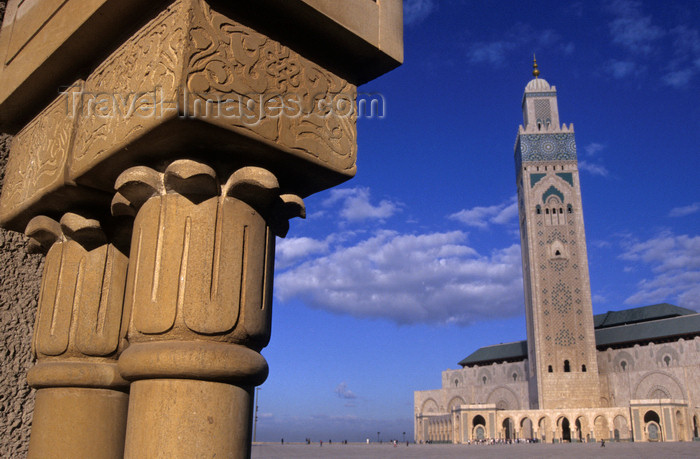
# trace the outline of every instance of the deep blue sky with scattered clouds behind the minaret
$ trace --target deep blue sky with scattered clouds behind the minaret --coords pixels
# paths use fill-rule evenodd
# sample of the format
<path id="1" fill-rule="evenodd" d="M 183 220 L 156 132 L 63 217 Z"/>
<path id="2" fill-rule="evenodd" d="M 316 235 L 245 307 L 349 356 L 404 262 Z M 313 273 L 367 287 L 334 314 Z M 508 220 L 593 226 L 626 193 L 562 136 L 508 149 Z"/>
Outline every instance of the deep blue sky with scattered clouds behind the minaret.
<path id="1" fill-rule="evenodd" d="M 594 313 L 700 310 L 697 2 L 404 8 L 404 65 L 360 87 L 386 112 L 358 121 L 357 176 L 278 239 L 259 441 L 412 438 L 413 391 L 525 338 L 513 145 L 533 52 L 575 126 Z"/>

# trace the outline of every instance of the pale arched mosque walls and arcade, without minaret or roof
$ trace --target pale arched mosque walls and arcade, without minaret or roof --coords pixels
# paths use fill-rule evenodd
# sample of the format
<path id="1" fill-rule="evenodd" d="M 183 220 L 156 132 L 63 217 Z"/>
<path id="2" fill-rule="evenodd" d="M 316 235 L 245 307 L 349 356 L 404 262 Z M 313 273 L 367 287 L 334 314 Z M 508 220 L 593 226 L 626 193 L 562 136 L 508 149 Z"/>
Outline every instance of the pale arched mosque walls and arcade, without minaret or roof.
<path id="1" fill-rule="evenodd" d="M 700 428 L 700 337 L 636 344 L 597 352 L 601 403 L 597 408 L 528 410 L 527 360 L 442 373 L 442 389 L 414 394 L 416 441 L 465 443 L 485 438 L 565 441 L 653 441 L 644 415 L 660 417 L 659 438 L 688 441 Z M 486 378 L 486 379 L 484 379 Z M 635 414 L 636 413 L 636 414 Z M 489 418 L 489 416 L 492 416 Z M 663 434 L 663 436 L 662 436 Z"/>

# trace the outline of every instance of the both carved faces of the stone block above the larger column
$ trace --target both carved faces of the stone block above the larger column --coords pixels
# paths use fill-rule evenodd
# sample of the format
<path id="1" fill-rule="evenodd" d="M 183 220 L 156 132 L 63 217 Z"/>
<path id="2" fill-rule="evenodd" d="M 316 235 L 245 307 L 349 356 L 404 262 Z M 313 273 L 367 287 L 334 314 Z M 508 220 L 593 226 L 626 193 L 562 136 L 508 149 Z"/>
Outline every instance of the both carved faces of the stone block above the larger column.
<path id="1" fill-rule="evenodd" d="M 87 79 L 70 176 L 198 119 L 354 174 L 356 87 L 201 0 L 178 0 Z M 229 138 L 230 141 L 230 138 Z M 230 153 L 229 153 L 230 154 Z"/>

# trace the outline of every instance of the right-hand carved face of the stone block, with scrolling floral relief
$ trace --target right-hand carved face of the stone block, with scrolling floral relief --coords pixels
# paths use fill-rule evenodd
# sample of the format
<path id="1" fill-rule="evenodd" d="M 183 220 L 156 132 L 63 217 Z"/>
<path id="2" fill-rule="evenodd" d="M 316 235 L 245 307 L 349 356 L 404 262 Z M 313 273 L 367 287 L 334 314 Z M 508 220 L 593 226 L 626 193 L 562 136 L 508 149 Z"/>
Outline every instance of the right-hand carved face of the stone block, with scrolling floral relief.
<path id="1" fill-rule="evenodd" d="M 202 102 L 232 101 L 232 116 L 219 112 L 227 104 L 221 102 L 211 107 L 219 116 L 210 121 L 257 134 L 334 169 L 354 169 L 355 86 L 206 3 L 198 5 L 189 31 L 193 47 L 186 88 Z M 193 106 L 190 101 L 188 108 Z"/>

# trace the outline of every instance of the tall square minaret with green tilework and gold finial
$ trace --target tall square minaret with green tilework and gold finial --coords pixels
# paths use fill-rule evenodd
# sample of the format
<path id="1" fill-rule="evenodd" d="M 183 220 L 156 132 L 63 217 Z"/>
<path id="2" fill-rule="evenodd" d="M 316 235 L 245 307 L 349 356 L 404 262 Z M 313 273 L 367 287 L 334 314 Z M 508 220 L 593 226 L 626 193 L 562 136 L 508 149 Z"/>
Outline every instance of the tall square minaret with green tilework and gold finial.
<path id="1" fill-rule="evenodd" d="M 515 143 L 531 408 L 600 403 L 574 128 L 555 86 L 532 79 Z"/>

